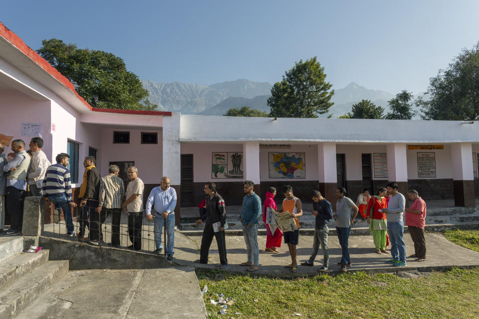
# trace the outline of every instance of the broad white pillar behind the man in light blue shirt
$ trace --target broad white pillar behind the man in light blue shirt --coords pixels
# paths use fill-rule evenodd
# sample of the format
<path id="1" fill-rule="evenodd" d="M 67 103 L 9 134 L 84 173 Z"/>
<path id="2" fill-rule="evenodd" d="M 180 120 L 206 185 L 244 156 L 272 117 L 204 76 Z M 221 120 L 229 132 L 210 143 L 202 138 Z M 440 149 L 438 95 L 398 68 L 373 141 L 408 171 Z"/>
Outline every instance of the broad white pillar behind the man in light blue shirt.
<path id="1" fill-rule="evenodd" d="M 181 184 L 181 155 L 180 155 L 180 113 L 163 117 L 163 176 L 170 178 L 170 187 L 175 188 L 177 202 L 175 207 L 175 223 L 180 225 L 180 184 Z"/>

